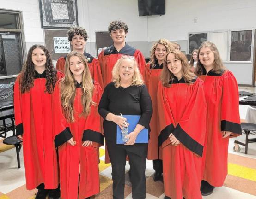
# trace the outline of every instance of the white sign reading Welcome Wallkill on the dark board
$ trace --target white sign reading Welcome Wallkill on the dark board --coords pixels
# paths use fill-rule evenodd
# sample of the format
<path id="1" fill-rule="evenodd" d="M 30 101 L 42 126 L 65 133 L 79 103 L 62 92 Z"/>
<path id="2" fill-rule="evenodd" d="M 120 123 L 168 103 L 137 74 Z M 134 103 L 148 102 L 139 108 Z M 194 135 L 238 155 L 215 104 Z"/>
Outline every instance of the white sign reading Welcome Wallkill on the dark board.
<path id="1" fill-rule="evenodd" d="M 70 42 L 67 37 L 53 37 L 54 53 L 69 53 Z"/>

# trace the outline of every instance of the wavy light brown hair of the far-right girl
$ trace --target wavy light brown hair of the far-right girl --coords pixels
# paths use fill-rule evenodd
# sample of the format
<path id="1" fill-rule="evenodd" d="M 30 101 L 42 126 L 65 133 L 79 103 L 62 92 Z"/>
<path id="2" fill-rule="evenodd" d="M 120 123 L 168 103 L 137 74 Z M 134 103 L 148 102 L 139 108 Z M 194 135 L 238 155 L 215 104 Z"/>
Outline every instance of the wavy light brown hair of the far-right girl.
<path id="1" fill-rule="evenodd" d="M 201 76 L 203 74 L 203 64 L 200 62 L 200 59 L 199 59 L 199 54 L 200 54 L 200 51 L 202 48 L 204 47 L 209 47 L 211 51 L 213 51 L 213 54 L 214 54 L 214 62 L 213 62 L 213 72 L 215 73 L 222 73 L 223 70 L 226 70 L 225 66 L 223 65 L 222 63 L 222 60 L 220 58 L 220 55 L 219 55 L 219 51 L 216 47 L 216 45 L 210 41 L 204 41 L 201 46 L 198 48 L 198 62 L 196 64 L 196 70 L 195 70 L 195 74 L 197 76 Z"/>

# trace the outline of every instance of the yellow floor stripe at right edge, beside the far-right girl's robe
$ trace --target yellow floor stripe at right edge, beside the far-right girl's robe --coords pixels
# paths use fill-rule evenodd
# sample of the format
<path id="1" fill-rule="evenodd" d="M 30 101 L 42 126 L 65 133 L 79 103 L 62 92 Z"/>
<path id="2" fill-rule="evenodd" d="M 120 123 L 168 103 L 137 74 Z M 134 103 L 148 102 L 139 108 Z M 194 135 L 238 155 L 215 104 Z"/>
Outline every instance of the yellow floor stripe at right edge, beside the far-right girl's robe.
<path id="1" fill-rule="evenodd" d="M 228 163 L 228 174 L 247 180 L 256 181 L 256 170 L 238 164 Z"/>

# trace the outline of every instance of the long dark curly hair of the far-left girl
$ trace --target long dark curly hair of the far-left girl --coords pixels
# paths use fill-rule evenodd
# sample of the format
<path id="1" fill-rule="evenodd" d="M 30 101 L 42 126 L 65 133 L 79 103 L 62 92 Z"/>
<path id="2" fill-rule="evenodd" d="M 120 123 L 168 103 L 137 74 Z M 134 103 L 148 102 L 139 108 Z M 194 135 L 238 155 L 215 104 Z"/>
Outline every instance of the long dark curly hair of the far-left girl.
<path id="1" fill-rule="evenodd" d="M 36 76 L 35 67 L 32 62 L 32 52 L 36 48 L 41 48 L 46 56 L 46 63 L 45 63 L 45 75 L 46 75 L 46 90 L 45 92 L 52 93 L 55 83 L 57 82 L 57 71 L 54 69 L 51 56 L 49 51 L 40 44 L 35 44 L 30 47 L 27 60 L 22 68 L 21 71 L 21 82 L 20 82 L 20 90 L 21 93 L 25 93 L 30 90 L 34 86 L 34 78 Z"/>

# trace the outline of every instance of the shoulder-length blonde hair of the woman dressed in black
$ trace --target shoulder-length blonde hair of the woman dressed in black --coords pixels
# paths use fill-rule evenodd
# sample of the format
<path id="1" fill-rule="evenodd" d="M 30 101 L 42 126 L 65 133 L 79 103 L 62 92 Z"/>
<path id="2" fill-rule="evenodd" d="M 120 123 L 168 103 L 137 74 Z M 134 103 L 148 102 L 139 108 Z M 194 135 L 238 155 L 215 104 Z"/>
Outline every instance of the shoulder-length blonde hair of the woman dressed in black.
<path id="1" fill-rule="evenodd" d="M 120 59 L 117 60 L 116 64 L 114 65 L 113 67 L 113 70 L 112 70 L 112 82 L 114 82 L 114 85 L 116 88 L 120 87 L 120 83 L 121 83 L 121 80 L 120 80 L 120 76 L 119 76 L 119 69 L 120 69 L 120 66 L 122 64 L 122 61 L 124 59 L 130 59 L 133 61 L 134 63 L 134 75 L 132 77 L 132 83 L 131 85 L 136 85 L 136 86 L 141 86 L 144 84 L 143 80 L 142 80 L 142 77 L 141 77 L 141 74 L 140 74 L 140 70 L 138 68 L 138 64 L 137 64 L 137 61 L 134 59 L 133 56 L 126 56 L 126 55 L 123 55 Z"/>

